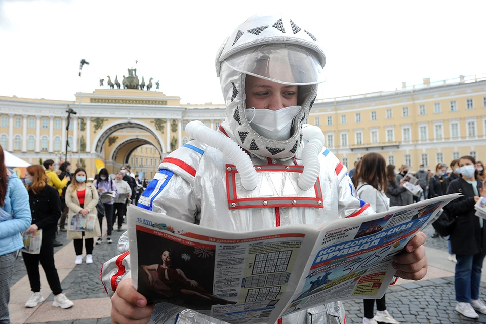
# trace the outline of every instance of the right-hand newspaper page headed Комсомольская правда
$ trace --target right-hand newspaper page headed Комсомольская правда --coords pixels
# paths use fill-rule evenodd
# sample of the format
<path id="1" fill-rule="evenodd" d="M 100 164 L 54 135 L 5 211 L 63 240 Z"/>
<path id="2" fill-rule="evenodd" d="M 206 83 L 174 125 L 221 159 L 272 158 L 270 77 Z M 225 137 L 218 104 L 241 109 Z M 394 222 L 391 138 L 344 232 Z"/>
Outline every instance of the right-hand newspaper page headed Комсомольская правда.
<path id="1" fill-rule="evenodd" d="M 396 272 L 393 256 L 458 196 L 324 224 L 284 314 L 332 301 L 381 298 Z"/>

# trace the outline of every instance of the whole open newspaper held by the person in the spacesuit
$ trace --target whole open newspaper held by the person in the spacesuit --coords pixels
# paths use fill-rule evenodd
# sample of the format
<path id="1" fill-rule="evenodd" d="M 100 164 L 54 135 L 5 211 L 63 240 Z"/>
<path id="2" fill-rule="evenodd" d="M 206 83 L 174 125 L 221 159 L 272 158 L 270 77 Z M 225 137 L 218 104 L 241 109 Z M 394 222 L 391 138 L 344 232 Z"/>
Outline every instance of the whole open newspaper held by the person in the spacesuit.
<path id="1" fill-rule="evenodd" d="M 128 208 L 132 282 L 157 304 L 229 323 L 274 323 L 324 303 L 381 298 L 392 259 L 459 194 L 322 224 L 225 232 Z M 162 304 L 159 304 L 162 303 Z"/>

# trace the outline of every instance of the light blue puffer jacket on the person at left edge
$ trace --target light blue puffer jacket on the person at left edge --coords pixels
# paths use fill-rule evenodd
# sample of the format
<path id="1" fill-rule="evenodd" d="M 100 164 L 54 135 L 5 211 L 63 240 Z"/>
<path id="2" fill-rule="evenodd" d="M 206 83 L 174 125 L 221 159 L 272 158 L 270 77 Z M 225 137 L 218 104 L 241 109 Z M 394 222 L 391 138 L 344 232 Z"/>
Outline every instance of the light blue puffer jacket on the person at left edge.
<path id="1" fill-rule="evenodd" d="M 23 248 L 24 243 L 20 233 L 29 228 L 32 223 L 27 189 L 14 172 L 7 170 L 7 175 L 9 181 L 2 209 L 12 215 L 12 219 L 0 223 L 0 255 Z"/>

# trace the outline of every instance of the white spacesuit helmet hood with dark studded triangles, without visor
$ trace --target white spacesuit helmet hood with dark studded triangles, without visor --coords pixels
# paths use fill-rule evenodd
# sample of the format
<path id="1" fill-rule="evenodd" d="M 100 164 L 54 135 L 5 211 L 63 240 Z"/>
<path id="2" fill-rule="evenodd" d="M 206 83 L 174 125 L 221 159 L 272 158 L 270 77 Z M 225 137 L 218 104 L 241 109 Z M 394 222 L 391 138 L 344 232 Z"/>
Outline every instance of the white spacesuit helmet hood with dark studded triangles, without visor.
<path id="1" fill-rule="evenodd" d="M 317 95 L 317 83 L 297 82 L 298 101 L 301 106 L 297 112 L 291 136 L 287 140 L 277 141 L 265 138 L 250 126 L 245 108 L 245 71 L 238 70 L 226 60 L 231 60 L 237 53 L 265 44 L 289 44 L 311 52 L 314 60 L 323 67 L 326 57 L 317 39 L 311 32 L 302 29 L 297 22 L 277 16 L 254 16 L 241 24 L 226 39 L 216 57 L 216 73 L 220 78 L 221 89 L 226 102 L 226 120 L 222 124 L 230 136 L 250 154 L 261 159 L 266 157 L 286 160 L 299 150 L 302 141 L 302 123 L 308 116 Z M 258 75 L 255 75 L 258 77 Z M 291 84 L 291 83 L 289 83 Z M 251 119 L 251 116 L 250 116 Z"/>

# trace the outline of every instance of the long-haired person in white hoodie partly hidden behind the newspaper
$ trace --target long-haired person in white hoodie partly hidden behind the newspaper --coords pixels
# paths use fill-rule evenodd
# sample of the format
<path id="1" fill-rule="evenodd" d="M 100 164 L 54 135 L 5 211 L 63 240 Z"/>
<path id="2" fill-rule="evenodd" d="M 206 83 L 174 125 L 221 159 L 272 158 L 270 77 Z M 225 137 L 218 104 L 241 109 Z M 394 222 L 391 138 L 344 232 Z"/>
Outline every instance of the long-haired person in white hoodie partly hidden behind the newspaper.
<path id="1" fill-rule="evenodd" d="M 361 159 L 359 170 L 354 174 L 356 194 L 359 199 L 370 204 L 377 213 L 390 209 L 390 198 L 386 196 L 386 161 L 379 153 L 367 153 Z M 365 299 L 365 317 L 363 324 L 378 322 L 399 324 L 386 310 L 385 295 L 376 300 L 376 315 L 373 315 L 375 299 Z"/>

